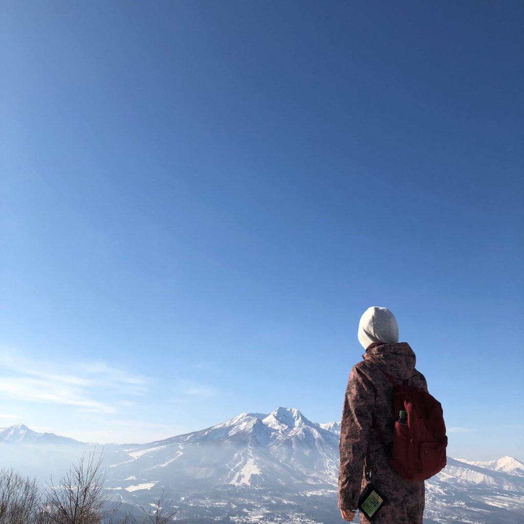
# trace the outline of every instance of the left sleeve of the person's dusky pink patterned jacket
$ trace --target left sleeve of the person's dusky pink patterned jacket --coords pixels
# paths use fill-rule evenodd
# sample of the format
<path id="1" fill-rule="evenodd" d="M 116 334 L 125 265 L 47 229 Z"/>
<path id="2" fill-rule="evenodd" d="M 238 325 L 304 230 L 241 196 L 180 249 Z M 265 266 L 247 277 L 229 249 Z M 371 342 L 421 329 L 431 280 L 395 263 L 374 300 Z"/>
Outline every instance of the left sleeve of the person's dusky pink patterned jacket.
<path id="1" fill-rule="evenodd" d="M 358 506 L 374 408 L 373 383 L 361 369 L 353 366 L 347 380 L 340 423 L 340 509 L 355 510 Z"/>

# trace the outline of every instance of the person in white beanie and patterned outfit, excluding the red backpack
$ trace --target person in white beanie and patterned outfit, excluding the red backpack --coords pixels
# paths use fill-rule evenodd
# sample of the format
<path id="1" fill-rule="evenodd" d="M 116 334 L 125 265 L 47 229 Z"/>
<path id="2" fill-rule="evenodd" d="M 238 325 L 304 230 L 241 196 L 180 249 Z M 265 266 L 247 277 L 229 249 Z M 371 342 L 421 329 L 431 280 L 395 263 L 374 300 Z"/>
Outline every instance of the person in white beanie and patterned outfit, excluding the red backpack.
<path id="1" fill-rule="evenodd" d="M 425 377 L 415 369 L 413 350 L 398 340 L 397 320 L 391 311 L 374 306 L 364 312 L 358 324 L 364 360 L 351 368 L 340 429 L 338 507 L 349 522 L 368 483 L 367 472 L 385 499 L 373 524 L 422 524 L 424 481 L 407 481 L 389 465 L 398 413 L 393 410 L 393 386 L 382 372 L 398 384 L 409 379 L 408 384 L 428 389 Z M 370 522 L 362 512 L 359 518 L 363 524 Z"/>

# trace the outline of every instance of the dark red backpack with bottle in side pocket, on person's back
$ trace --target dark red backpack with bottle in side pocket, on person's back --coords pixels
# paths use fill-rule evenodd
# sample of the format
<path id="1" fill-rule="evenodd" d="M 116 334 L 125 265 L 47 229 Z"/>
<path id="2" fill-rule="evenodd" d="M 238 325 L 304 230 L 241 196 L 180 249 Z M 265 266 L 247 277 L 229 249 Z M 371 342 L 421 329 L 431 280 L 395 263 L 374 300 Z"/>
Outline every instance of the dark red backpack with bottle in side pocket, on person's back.
<path id="1" fill-rule="evenodd" d="M 398 385 L 393 377 L 382 373 L 393 385 L 395 416 L 400 410 L 408 414 L 407 424 L 395 422 L 389 464 L 408 481 L 425 481 L 446 465 L 447 436 L 441 403 L 425 389 L 410 386 L 408 380 Z M 373 429 L 383 440 L 375 423 Z"/>

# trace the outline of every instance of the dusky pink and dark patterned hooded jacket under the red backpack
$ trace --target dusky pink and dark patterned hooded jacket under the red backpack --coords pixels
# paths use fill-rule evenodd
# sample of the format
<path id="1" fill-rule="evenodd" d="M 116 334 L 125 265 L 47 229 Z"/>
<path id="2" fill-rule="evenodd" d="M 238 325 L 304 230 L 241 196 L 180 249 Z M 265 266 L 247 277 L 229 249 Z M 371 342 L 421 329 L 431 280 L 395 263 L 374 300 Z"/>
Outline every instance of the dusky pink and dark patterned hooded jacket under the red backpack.
<path id="1" fill-rule="evenodd" d="M 409 378 L 409 384 L 427 389 L 426 380 L 415 369 L 416 357 L 406 342 L 371 344 L 362 356 L 364 360 L 351 369 L 344 395 L 338 506 L 350 510 L 357 508 L 358 497 L 367 484 L 364 475 L 367 466 L 372 468 L 373 485 L 388 500 L 384 510 L 380 510 L 384 517 L 388 511 L 386 506 L 423 511 L 424 482 L 406 481 L 389 465 L 387 449 L 393 441 L 396 414 L 392 403 L 393 386 L 380 369 L 398 378 L 399 384 Z M 374 421 L 383 440 L 373 431 Z"/>

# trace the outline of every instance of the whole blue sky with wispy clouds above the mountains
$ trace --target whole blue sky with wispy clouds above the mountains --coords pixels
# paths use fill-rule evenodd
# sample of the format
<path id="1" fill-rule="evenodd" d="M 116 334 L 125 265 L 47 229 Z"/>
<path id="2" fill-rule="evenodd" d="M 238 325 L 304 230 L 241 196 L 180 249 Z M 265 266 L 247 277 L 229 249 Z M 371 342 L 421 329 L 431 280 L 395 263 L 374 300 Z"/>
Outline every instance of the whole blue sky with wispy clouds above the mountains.
<path id="1" fill-rule="evenodd" d="M 0 425 L 340 420 L 370 305 L 524 459 L 521 2 L 4 2 Z"/>

